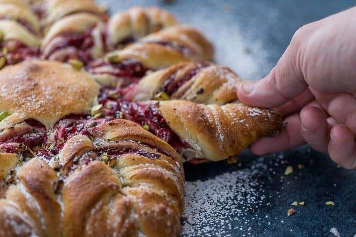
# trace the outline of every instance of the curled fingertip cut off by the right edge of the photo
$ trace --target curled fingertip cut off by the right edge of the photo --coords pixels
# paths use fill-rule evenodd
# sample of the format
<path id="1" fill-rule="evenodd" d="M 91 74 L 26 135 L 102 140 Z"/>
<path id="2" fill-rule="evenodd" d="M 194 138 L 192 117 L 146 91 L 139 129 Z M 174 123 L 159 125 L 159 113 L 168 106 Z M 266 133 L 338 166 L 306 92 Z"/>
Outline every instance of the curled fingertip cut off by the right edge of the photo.
<path id="1" fill-rule="evenodd" d="M 349 169 L 356 169 L 356 146 L 353 132 L 343 124 L 335 125 L 330 131 L 328 145 L 332 160 Z"/>

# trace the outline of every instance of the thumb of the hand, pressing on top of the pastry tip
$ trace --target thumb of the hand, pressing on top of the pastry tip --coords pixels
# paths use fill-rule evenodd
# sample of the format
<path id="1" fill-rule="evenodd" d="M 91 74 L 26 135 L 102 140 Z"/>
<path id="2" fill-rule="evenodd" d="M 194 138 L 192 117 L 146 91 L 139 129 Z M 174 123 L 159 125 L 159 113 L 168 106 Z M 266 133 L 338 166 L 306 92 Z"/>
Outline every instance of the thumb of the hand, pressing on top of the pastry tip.
<path id="1" fill-rule="evenodd" d="M 245 81 L 238 87 L 239 100 L 247 105 L 274 108 L 298 96 L 308 87 L 300 70 L 301 49 L 297 31 L 286 51 L 272 71 L 260 81 Z"/>

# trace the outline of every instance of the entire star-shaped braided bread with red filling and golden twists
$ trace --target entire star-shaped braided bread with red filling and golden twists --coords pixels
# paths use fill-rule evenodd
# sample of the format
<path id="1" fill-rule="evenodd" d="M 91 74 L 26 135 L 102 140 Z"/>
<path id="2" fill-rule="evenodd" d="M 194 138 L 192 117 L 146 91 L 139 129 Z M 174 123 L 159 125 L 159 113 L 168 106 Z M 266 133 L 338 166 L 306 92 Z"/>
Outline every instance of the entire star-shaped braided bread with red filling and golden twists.
<path id="1" fill-rule="evenodd" d="M 196 29 L 158 8 L 107 20 L 94 0 L 0 0 L 0 236 L 179 236 L 182 161 L 282 127 L 238 103 Z"/>

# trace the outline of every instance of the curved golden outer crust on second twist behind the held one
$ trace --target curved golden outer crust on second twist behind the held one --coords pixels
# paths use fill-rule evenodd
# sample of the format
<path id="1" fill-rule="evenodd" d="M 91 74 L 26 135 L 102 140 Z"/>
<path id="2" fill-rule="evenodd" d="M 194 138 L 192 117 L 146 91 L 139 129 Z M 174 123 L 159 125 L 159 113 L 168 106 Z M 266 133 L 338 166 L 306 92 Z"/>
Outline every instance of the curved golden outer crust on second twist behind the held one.
<path id="1" fill-rule="evenodd" d="M 200 31 L 189 25 L 173 25 L 152 33 L 140 42 L 176 42 L 193 51 L 191 60 L 211 60 L 214 54 L 213 45 Z"/>

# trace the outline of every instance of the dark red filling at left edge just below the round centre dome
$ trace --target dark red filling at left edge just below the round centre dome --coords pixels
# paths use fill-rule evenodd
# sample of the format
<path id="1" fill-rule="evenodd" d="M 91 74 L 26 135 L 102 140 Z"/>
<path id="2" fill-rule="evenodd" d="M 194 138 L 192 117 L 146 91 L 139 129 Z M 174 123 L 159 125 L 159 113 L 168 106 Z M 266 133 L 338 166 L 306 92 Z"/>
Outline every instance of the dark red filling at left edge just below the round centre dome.
<path id="1" fill-rule="evenodd" d="M 34 150 L 34 147 L 41 146 L 46 142 L 46 128 L 40 122 L 27 119 L 25 122 L 33 128 L 32 132 L 15 136 L 6 141 L 0 141 L 0 148 L 4 152 L 15 153 L 18 148 L 29 148 Z"/>

